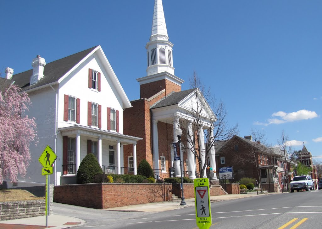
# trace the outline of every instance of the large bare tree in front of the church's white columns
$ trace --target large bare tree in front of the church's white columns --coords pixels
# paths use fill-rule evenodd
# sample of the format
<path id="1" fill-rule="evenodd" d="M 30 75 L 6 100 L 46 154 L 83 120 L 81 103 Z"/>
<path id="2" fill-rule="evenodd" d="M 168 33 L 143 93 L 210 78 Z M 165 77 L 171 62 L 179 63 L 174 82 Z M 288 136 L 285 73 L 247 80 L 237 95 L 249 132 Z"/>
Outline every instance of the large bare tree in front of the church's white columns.
<path id="1" fill-rule="evenodd" d="M 237 133 L 238 125 L 229 126 L 223 101 L 216 100 L 196 72 L 190 78 L 190 88 L 194 89 L 193 98 L 178 109 L 177 120 L 185 133 L 183 140 L 194 153 L 199 164 L 200 177 L 203 177 L 207 158 L 211 152 L 214 154 L 214 142 L 230 139 Z M 189 123 L 192 124 L 193 131 L 188 130 Z"/>

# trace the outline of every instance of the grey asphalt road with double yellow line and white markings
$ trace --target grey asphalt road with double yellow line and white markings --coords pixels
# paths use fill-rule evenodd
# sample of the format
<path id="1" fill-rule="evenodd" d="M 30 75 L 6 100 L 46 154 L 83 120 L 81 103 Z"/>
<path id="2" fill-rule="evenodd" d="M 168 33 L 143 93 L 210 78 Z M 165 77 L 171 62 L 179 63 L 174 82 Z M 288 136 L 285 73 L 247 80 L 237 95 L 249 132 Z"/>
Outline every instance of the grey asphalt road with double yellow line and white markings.
<path id="1" fill-rule="evenodd" d="M 211 208 L 210 228 L 322 228 L 322 190 L 213 202 Z M 194 207 L 146 213 L 54 203 L 53 213 L 86 221 L 85 225 L 74 228 L 196 228 Z"/>

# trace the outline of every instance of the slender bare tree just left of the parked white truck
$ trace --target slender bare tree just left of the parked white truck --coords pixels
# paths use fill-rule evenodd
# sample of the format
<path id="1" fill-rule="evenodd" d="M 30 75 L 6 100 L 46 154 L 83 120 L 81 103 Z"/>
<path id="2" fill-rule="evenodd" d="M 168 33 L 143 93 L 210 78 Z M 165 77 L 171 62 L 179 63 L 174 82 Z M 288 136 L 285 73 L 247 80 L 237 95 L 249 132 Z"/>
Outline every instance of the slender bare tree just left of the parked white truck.
<path id="1" fill-rule="evenodd" d="M 296 162 L 296 159 L 294 157 L 294 153 L 292 152 L 292 146 L 289 145 L 289 136 L 285 134 L 284 130 L 282 130 L 280 138 L 277 140 L 277 143 L 279 144 L 279 149 L 282 154 L 282 160 L 285 162 L 286 166 L 285 174 L 286 174 L 286 183 L 289 184 L 289 170 L 291 166 L 291 162 Z M 287 190 L 289 190 L 289 185 L 287 185 Z"/>

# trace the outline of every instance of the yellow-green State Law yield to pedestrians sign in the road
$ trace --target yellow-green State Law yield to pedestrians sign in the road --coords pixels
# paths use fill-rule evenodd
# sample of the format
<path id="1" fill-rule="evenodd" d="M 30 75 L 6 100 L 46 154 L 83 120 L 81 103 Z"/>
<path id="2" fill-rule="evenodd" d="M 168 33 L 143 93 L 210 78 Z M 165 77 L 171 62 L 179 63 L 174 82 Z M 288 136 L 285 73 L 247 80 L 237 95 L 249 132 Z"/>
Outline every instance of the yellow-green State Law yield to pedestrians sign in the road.
<path id="1" fill-rule="evenodd" d="M 194 179 L 196 223 L 200 229 L 209 229 L 212 224 L 209 194 L 209 179 Z"/>

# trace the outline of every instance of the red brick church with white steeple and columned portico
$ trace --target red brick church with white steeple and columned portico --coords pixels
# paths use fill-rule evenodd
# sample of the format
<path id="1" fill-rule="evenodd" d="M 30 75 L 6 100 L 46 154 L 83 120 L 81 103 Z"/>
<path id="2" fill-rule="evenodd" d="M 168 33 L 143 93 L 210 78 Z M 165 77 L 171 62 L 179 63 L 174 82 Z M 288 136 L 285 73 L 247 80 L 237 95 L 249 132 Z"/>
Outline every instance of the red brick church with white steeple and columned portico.
<path id="1" fill-rule="evenodd" d="M 183 130 L 182 153 L 184 175 L 192 179 L 199 174 L 198 161 L 191 150 L 194 140 L 187 136 L 194 136 L 199 131 L 200 149 L 204 152 L 204 132 L 211 134 L 213 129 L 210 124 L 215 120 L 215 115 L 210 107 L 204 110 L 209 122 L 203 122 L 201 127 L 193 123 L 194 117 L 186 115 L 195 100 L 204 100 L 199 89 L 181 90 L 184 80 L 175 76 L 173 66 L 173 44 L 169 41 L 166 22 L 161 0 L 155 0 L 152 33 L 147 42 L 147 75 L 138 78 L 140 84 L 140 98 L 131 101 L 131 108 L 123 111 L 124 134 L 143 138 L 137 142 L 137 153 L 133 155 L 131 146 L 124 146 L 124 166 L 136 168 L 142 159 L 146 159 L 158 178 L 169 176 L 169 168 L 175 168 L 175 176 L 181 176 L 180 162 L 174 160 L 173 143 L 178 141 L 175 131 Z M 204 100 L 205 101 L 205 100 Z M 191 113 L 191 112 L 190 112 Z M 181 120 L 185 120 L 182 122 Z M 206 120 L 206 119 L 204 119 Z M 180 126 L 185 123 L 185 126 Z M 190 137 L 191 139 L 191 137 Z M 209 150 L 207 164 L 215 171 L 215 151 Z M 206 160 L 202 156 L 202 162 Z M 206 170 L 204 172 L 206 177 Z M 216 179 L 212 173 L 211 178 Z"/>

